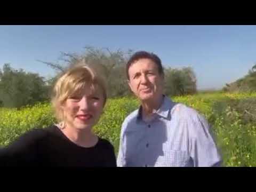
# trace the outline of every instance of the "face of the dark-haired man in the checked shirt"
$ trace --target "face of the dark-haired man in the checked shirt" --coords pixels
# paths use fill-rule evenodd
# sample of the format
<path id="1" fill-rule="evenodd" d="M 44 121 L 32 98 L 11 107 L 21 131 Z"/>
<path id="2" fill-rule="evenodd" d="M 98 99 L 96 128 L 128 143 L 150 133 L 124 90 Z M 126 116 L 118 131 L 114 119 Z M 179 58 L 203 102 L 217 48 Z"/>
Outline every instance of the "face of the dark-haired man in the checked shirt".
<path id="1" fill-rule="evenodd" d="M 129 86 L 141 101 L 154 101 L 163 94 L 164 77 L 150 59 L 139 59 L 129 70 Z"/>

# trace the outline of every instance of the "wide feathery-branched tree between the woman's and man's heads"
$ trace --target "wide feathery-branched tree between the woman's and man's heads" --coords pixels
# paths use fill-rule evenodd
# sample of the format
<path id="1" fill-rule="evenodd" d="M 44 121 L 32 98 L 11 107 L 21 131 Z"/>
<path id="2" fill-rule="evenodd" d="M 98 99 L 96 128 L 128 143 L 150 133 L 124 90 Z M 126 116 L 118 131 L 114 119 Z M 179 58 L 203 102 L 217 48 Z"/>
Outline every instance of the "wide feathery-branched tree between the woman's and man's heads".
<path id="1" fill-rule="evenodd" d="M 110 51 L 108 48 L 97 49 L 91 46 L 86 46 L 84 49 L 85 52 L 81 55 L 61 52 L 59 58 L 61 64 L 41 61 L 57 71 L 57 76 L 49 80 L 51 85 L 63 71 L 76 65 L 78 60 L 84 59 L 89 65 L 99 67 L 102 75 L 107 78 L 109 97 L 122 97 L 130 93 L 126 82 L 125 64 L 132 54 L 132 50 L 127 52 Z"/>

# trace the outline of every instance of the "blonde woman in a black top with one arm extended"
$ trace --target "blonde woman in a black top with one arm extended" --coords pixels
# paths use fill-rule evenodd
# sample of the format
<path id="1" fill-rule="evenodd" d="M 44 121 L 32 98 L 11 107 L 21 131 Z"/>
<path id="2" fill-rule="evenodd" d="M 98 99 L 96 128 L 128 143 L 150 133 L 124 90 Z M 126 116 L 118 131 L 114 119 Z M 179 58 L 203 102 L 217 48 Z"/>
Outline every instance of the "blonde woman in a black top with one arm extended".
<path id="1" fill-rule="evenodd" d="M 92 132 L 107 99 L 96 71 L 79 61 L 63 74 L 52 97 L 59 124 L 23 134 L 2 149 L 1 165 L 116 166 L 114 147 Z"/>

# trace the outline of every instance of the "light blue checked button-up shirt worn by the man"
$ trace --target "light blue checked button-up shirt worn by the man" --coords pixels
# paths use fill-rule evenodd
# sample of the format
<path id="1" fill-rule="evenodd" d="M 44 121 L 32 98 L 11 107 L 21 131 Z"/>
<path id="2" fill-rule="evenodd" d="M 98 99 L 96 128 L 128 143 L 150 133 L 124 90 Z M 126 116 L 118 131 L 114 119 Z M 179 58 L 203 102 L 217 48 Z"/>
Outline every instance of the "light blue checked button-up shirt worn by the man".
<path id="1" fill-rule="evenodd" d="M 125 118 L 117 166 L 221 166 L 221 156 L 205 118 L 164 96 L 151 121 L 141 107 Z"/>

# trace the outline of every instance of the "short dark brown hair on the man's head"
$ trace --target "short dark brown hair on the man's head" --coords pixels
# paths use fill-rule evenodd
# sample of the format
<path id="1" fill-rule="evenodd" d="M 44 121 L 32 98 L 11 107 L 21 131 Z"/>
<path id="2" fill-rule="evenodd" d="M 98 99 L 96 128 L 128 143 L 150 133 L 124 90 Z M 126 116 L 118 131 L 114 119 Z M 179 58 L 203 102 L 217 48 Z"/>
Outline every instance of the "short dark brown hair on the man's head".
<path id="1" fill-rule="evenodd" d="M 158 73 L 160 75 L 164 75 L 164 70 L 163 70 L 161 59 L 156 54 L 149 53 L 147 51 L 138 51 L 138 52 L 135 52 L 131 56 L 131 58 L 129 59 L 129 61 L 126 64 L 127 79 L 130 79 L 129 73 L 128 73 L 129 68 L 131 67 L 132 63 L 134 63 L 135 61 L 138 61 L 139 59 L 150 59 L 150 60 L 154 61 L 157 65 Z"/>

